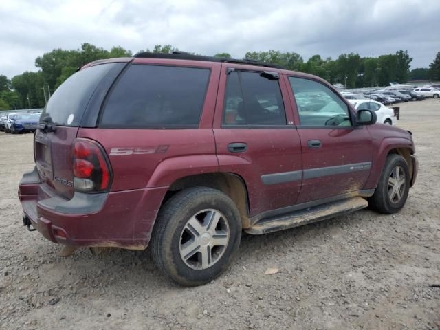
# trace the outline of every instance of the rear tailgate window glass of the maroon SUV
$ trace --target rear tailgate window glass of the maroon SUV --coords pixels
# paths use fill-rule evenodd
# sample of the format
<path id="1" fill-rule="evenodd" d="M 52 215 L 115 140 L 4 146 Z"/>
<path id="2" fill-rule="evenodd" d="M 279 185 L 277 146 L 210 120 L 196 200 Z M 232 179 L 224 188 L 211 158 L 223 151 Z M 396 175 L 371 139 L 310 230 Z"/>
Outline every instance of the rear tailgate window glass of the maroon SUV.
<path id="1" fill-rule="evenodd" d="M 47 102 L 41 120 L 60 126 L 79 126 L 98 83 L 113 65 L 115 63 L 87 67 L 70 76 Z"/>

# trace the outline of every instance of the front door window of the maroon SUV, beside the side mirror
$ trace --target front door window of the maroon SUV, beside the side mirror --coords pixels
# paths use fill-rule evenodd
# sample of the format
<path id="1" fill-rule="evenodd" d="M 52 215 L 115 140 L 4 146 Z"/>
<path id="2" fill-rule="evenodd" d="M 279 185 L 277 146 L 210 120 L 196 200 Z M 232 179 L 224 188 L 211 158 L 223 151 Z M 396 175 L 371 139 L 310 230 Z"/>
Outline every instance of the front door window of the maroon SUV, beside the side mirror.
<path id="1" fill-rule="evenodd" d="M 349 108 L 329 87 L 289 77 L 301 126 L 351 126 Z"/>

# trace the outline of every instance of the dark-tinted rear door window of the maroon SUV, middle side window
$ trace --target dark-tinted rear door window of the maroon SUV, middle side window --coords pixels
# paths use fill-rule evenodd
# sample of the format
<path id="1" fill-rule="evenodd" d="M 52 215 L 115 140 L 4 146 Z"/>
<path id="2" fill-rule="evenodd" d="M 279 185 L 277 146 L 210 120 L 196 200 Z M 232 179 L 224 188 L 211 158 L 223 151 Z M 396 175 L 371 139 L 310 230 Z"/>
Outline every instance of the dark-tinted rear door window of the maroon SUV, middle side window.
<path id="1" fill-rule="evenodd" d="M 258 72 L 228 75 L 223 111 L 225 125 L 285 125 L 285 109 L 278 79 Z"/>

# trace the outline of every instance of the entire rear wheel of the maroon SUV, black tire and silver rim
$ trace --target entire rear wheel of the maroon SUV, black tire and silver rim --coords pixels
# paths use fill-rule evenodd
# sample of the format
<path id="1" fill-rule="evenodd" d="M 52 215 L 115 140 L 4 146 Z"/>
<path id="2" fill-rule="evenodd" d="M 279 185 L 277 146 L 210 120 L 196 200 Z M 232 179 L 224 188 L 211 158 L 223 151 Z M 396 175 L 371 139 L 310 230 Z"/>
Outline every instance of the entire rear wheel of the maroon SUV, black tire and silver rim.
<path id="1" fill-rule="evenodd" d="M 241 240 L 241 219 L 223 192 L 195 187 L 177 192 L 159 211 L 151 236 L 153 261 L 184 286 L 202 285 L 224 272 Z"/>

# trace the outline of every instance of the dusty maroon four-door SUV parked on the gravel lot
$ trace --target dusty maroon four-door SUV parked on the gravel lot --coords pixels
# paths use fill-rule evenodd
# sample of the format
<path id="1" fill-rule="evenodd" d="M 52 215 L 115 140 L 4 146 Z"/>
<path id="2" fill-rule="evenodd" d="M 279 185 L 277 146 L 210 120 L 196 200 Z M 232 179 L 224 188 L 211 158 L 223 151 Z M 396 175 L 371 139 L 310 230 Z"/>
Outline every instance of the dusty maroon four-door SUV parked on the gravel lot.
<path id="1" fill-rule="evenodd" d="M 144 250 L 182 285 L 265 234 L 371 206 L 417 176 L 411 133 L 375 124 L 325 80 L 189 54 L 95 61 L 41 115 L 23 223 L 54 243 Z"/>

